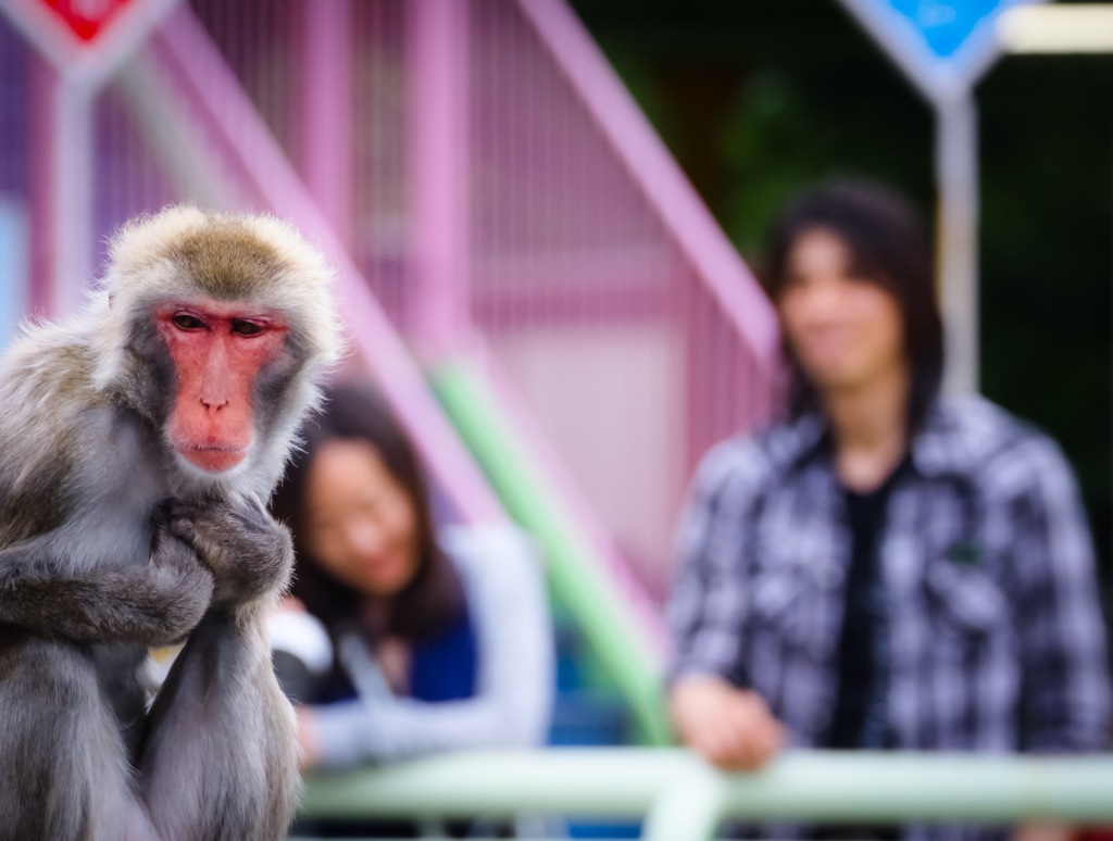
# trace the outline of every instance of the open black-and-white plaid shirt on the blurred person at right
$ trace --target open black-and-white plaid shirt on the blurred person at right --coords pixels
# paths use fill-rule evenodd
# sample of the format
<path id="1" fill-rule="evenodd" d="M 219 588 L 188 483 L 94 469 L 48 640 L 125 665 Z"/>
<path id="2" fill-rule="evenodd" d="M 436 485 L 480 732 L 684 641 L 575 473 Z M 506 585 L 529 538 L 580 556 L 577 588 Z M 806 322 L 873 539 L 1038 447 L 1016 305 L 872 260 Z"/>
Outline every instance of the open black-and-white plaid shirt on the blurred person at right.
<path id="1" fill-rule="evenodd" d="M 761 694 L 794 746 L 837 692 L 850 534 L 815 416 L 720 444 L 680 530 L 671 679 Z M 878 536 L 884 715 L 904 750 L 1093 751 L 1110 716 L 1090 535 L 1056 445 L 978 398 L 940 398 Z M 937 833 L 928 833 L 937 834 Z"/>

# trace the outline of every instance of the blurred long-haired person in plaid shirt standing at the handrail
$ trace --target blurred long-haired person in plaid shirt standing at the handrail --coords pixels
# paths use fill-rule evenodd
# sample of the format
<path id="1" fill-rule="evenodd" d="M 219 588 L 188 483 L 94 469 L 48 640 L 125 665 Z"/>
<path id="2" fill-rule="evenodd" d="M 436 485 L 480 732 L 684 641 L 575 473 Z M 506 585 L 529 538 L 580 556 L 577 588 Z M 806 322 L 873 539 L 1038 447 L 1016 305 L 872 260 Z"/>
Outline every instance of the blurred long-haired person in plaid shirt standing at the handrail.
<path id="1" fill-rule="evenodd" d="M 774 226 L 764 279 L 788 418 L 697 475 L 670 603 L 680 738 L 735 769 L 786 743 L 1102 749 L 1105 635 L 1074 477 L 1003 409 L 940 395 L 916 215 L 876 185 L 811 190 Z"/>

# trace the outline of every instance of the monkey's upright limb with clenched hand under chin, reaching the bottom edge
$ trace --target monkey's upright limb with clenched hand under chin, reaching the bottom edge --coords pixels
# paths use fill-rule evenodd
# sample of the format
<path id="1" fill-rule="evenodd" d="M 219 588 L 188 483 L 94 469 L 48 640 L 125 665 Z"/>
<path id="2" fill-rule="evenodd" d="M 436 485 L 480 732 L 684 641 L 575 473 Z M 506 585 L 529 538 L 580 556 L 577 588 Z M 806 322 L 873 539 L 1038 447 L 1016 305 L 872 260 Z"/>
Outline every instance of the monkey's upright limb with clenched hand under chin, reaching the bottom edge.
<path id="1" fill-rule="evenodd" d="M 294 713 L 263 623 L 289 577 L 289 533 L 254 503 L 174 523 L 215 587 L 148 716 L 138 760 L 147 811 L 162 838 L 277 841 L 301 782 Z"/>

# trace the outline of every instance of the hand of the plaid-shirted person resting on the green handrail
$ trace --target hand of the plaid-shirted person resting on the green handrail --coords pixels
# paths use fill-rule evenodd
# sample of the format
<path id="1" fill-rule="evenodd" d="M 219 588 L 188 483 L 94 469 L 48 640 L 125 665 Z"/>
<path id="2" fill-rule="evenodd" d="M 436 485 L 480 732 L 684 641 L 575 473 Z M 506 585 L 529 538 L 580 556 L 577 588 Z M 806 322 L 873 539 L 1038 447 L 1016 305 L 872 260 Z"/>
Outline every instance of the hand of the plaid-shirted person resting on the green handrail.
<path id="1" fill-rule="evenodd" d="M 678 680 L 669 711 L 680 740 L 726 771 L 755 771 L 785 744 L 785 726 L 761 696 L 717 675 Z"/>

